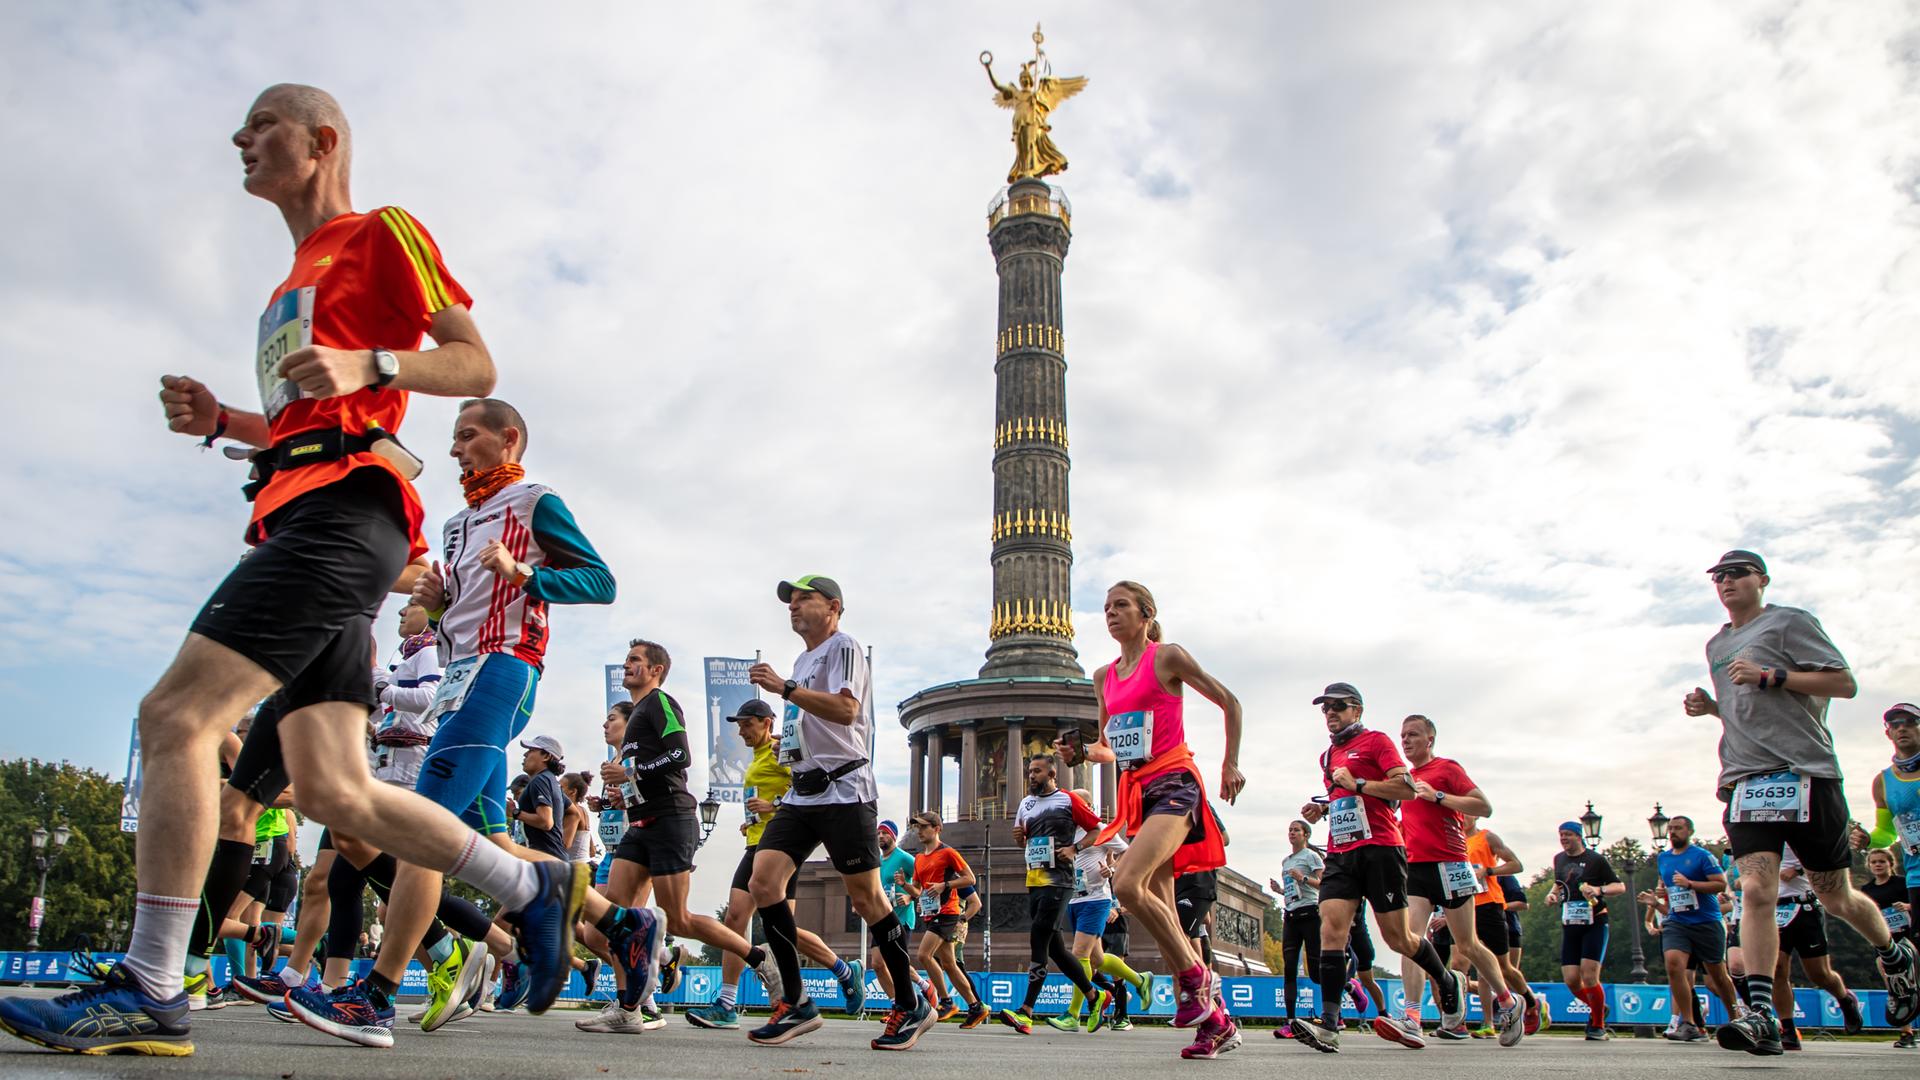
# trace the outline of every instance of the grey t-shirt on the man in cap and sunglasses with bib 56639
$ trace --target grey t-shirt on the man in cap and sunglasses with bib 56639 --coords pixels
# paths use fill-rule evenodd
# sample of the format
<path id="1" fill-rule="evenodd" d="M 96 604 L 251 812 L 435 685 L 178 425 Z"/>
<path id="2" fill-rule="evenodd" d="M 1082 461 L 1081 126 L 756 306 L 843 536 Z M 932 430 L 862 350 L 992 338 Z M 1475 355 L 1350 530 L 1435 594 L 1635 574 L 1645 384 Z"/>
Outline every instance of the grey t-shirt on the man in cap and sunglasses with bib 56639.
<path id="1" fill-rule="evenodd" d="M 1768 603 L 1741 628 L 1732 623 L 1707 642 L 1707 669 L 1720 705 L 1720 786 L 1743 776 L 1795 769 L 1807 776 L 1839 780 L 1834 732 L 1826 726 L 1826 698 L 1793 690 L 1736 686 L 1726 669 L 1745 657 L 1761 667 L 1788 671 L 1845 671 L 1847 657 L 1799 607 Z"/>

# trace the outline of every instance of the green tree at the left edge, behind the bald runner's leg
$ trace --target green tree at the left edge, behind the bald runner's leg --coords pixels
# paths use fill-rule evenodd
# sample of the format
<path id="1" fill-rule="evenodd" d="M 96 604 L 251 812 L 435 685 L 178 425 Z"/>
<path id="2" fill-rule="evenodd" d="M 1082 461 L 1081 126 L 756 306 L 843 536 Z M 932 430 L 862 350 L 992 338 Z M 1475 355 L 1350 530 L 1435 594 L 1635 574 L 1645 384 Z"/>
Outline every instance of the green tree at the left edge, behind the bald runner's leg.
<path id="1" fill-rule="evenodd" d="M 84 934 L 96 947 L 125 945 L 132 919 L 132 834 L 119 830 L 121 782 L 65 761 L 0 761 L 0 947 L 19 949 L 33 890 L 29 834 L 73 830 L 46 874 L 40 945 L 61 949 Z M 50 846 L 52 847 L 52 846 Z"/>

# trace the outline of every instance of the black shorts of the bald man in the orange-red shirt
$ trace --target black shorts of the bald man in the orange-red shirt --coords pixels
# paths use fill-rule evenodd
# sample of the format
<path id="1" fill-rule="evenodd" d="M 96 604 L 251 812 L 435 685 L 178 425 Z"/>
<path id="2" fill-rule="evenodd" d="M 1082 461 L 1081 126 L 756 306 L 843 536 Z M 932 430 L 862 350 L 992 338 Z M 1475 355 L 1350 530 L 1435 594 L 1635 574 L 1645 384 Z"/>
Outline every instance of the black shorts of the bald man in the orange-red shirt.
<path id="1" fill-rule="evenodd" d="M 261 521 L 265 542 L 207 598 L 192 630 L 275 676 L 288 713 L 374 703 L 372 621 L 407 565 L 399 482 L 348 473 Z"/>

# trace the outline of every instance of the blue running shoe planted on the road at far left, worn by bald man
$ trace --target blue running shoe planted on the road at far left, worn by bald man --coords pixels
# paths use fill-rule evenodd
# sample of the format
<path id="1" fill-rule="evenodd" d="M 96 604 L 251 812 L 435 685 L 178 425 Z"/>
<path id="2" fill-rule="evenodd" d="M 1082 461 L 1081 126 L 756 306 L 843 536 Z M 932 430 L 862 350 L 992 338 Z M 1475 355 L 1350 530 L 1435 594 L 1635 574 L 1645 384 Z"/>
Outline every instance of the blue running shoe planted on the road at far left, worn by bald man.
<path id="1" fill-rule="evenodd" d="M 0 1030 L 63 1053 L 186 1057 L 186 994 L 161 1001 L 127 967 L 60 997 L 0 997 Z"/>

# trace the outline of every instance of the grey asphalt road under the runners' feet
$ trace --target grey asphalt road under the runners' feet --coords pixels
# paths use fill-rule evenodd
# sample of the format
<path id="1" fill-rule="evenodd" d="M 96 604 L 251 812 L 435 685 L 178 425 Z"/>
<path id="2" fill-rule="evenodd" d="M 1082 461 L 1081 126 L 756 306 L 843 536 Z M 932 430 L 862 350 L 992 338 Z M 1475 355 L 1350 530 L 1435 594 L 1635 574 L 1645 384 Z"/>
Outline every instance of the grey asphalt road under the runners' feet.
<path id="1" fill-rule="evenodd" d="M 17 994 L 17 990 L 10 990 Z M 40 992 L 29 992 L 40 994 Z M 403 1007 L 405 1009 L 405 1007 Z M 668 1026 L 641 1036 L 589 1036 L 574 1030 L 586 1011 L 557 1009 L 545 1017 L 480 1015 L 434 1034 L 397 1030 L 392 1049 L 349 1045 L 300 1024 L 282 1024 L 259 1007 L 230 1007 L 194 1019 L 198 1051 L 184 1059 L 79 1057 L 50 1053 L 0 1036 L 0 1076 L 301 1076 L 355 1080 L 436 1080 L 549 1076 L 591 1078 L 647 1076 L 649 1080 L 768 1078 L 814 1080 L 874 1076 L 887 1080 L 1008 1080 L 1044 1074 L 1156 1076 L 1169 1068 L 1210 1076 L 1267 1080 L 1275 1074 L 1323 1076 L 1327 1070 L 1367 1080 L 1428 1080 L 1434 1068 L 1467 1070 L 1476 1080 L 1542 1080 L 1544 1076 L 1607 1076 L 1607 1080 L 1663 1080 L 1672 1068 L 1693 1076 L 1763 1068 L 1799 1076 L 1832 1074 L 1851 1080 L 1920 1074 L 1920 1051 L 1897 1051 L 1880 1042 L 1809 1042 L 1788 1057 L 1749 1057 L 1715 1045 L 1676 1045 L 1663 1040 L 1617 1038 L 1588 1043 L 1571 1036 L 1536 1036 L 1501 1049 L 1490 1040 L 1434 1043 L 1407 1051 L 1348 1032 L 1340 1057 L 1279 1042 L 1269 1028 L 1246 1032 L 1246 1045 L 1217 1061 L 1179 1061 L 1187 1032 L 1140 1026 L 1094 1036 L 1062 1034 L 1041 1026 L 1033 1036 L 985 1026 L 962 1032 L 941 1024 L 908 1053 L 876 1053 L 868 1040 L 879 1032 L 872 1020 L 829 1020 L 826 1028 L 783 1047 L 760 1047 L 741 1032 L 705 1032 L 678 1013 Z"/>

